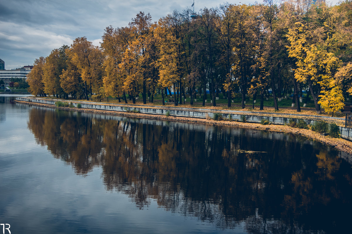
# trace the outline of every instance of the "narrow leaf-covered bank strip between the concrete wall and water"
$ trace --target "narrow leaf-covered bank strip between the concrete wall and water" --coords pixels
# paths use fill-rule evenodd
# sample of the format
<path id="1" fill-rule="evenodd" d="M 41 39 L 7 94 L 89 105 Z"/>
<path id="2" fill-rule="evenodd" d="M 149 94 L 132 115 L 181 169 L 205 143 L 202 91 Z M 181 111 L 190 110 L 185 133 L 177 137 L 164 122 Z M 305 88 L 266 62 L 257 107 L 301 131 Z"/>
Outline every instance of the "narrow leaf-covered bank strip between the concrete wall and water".
<path id="1" fill-rule="evenodd" d="M 210 119 L 210 118 L 202 119 L 202 118 L 190 118 L 190 117 L 184 117 L 184 116 L 166 116 L 166 115 L 160 115 L 160 114 L 144 114 L 144 113 L 109 111 L 109 110 L 77 108 L 77 107 L 73 107 L 73 108 L 71 108 L 71 107 L 57 107 L 57 106 L 45 104 L 45 103 L 36 103 L 36 102 L 19 101 L 19 100 L 16 100 L 16 102 L 35 105 L 35 106 L 65 109 L 65 110 L 70 110 L 70 111 L 123 115 L 123 116 L 137 117 L 137 118 L 169 120 L 169 121 L 185 121 L 185 122 L 212 124 L 212 125 L 226 125 L 226 126 L 233 126 L 233 127 L 245 127 L 245 128 L 250 128 L 250 129 L 265 130 L 265 131 L 271 131 L 271 132 L 296 134 L 296 135 L 311 138 L 313 140 L 323 142 L 323 143 L 326 143 L 327 145 L 335 147 L 339 151 L 342 151 L 342 152 L 349 154 L 350 155 L 349 159 L 352 160 L 352 157 L 351 157 L 351 155 L 352 155 L 352 141 L 342 139 L 342 138 L 331 138 L 329 136 L 322 136 L 319 133 L 316 133 L 316 132 L 311 131 L 309 129 L 292 128 L 287 125 L 275 125 L 275 124 L 261 125 L 260 123 L 251 123 L 251 122 L 225 121 L 225 120 L 218 121 L 218 120 L 214 120 L 214 119 Z"/>

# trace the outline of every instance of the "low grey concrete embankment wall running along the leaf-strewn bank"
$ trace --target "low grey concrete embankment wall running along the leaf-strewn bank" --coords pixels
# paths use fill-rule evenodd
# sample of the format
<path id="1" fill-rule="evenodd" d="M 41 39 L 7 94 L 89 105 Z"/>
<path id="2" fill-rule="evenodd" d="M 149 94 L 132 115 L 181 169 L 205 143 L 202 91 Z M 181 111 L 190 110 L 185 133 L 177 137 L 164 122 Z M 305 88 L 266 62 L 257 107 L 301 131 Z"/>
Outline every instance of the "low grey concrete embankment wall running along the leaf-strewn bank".
<path id="1" fill-rule="evenodd" d="M 36 98 L 30 98 L 30 97 L 17 97 L 16 100 L 19 101 L 27 101 L 27 102 L 36 102 L 36 103 L 42 103 L 42 104 L 49 104 L 49 105 L 55 105 L 55 102 L 60 101 L 60 100 L 55 100 L 55 99 L 36 99 Z M 251 123 L 260 123 L 263 119 L 267 119 L 273 124 L 277 125 L 284 125 L 285 123 L 289 122 L 289 119 L 293 119 L 296 122 L 298 122 L 299 119 L 303 119 L 307 124 L 314 124 L 316 120 L 312 120 L 311 118 L 328 118 L 326 116 L 316 116 L 316 115 L 299 115 L 295 114 L 292 117 L 286 117 L 287 115 L 292 115 L 292 114 L 282 114 L 282 113 L 275 113 L 275 115 L 286 115 L 284 116 L 265 116 L 263 114 L 272 114 L 272 113 L 262 113 L 262 112 L 242 112 L 242 111 L 225 111 L 225 110 L 210 110 L 210 109 L 197 109 L 197 108 L 182 108 L 182 107 L 160 107 L 156 108 L 153 106 L 152 108 L 148 108 L 147 106 L 127 106 L 124 104 L 119 104 L 119 105 L 114 105 L 114 104 L 100 104 L 96 102 L 79 102 L 81 103 L 81 108 L 86 108 L 86 109 L 97 109 L 97 110 L 103 110 L 103 111 L 120 111 L 120 112 L 131 112 L 131 111 L 139 111 L 139 113 L 143 114 L 154 114 L 154 115 L 165 115 L 167 112 L 169 112 L 169 115 L 171 116 L 180 116 L 180 117 L 191 117 L 191 118 L 201 118 L 205 119 L 207 116 L 210 118 L 214 118 L 215 114 L 220 114 L 222 118 L 228 119 L 231 116 L 231 119 L 233 120 L 239 120 L 241 121 L 243 116 L 246 118 L 247 122 Z M 77 103 L 73 102 L 73 105 L 76 107 Z M 262 115 L 260 115 L 262 114 Z M 300 116 L 302 118 L 297 118 L 297 116 Z M 339 119 L 339 120 L 344 120 L 342 118 L 329 118 L 329 119 Z M 351 140 L 352 141 L 352 128 L 350 127 L 341 127 L 340 126 L 340 132 L 341 132 L 341 137 Z"/>

